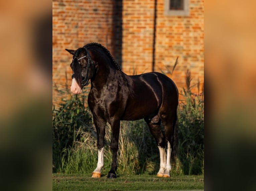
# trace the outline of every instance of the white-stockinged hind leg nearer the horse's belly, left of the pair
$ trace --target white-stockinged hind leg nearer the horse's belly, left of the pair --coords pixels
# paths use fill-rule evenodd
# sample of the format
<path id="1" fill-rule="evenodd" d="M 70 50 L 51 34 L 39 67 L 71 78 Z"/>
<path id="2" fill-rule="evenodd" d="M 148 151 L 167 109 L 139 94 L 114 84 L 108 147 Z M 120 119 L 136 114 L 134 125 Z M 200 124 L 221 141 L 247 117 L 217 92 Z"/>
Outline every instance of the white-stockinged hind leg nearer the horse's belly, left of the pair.
<path id="1" fill-rule="evenodd" d="M 158 118 L 158 120 L 157 120 Z M 159 177 L 163 177 L 164 172 L 165 172 L 165 166 L 166 166 L 166 153 L 165 153 L 165 140 L 164 140 L 164 136 L 161 130 L 161 120 L 159 119 L 159 117 L 156 115 L 155 117 L 153 117 L 152 120 L 148 120 L 145 118 L 146 123 L 149 126 L 149 130 L 151 132 L 151 134 L 153 135 L 153 137 L 155 138 L 156 144 L 158 146 L 159 149 L 159 154 L 160 154 L 160 169 L 157 173 L 157 176 Z"/>

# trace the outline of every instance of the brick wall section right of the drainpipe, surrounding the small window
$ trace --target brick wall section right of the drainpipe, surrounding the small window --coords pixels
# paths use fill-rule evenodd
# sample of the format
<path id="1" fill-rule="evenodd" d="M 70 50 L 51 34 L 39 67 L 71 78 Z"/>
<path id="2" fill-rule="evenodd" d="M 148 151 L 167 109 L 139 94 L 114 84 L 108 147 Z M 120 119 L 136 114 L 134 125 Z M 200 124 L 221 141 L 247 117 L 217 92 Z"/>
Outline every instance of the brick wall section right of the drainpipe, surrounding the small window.
<path id="1" fill-rule="evenodd" d="M 185 73 L 191 71 L 191 85 L 204 82 L 204 0 L 189 0 L 189 16 L 164 15 L 164 1 L 157 0 L 155 71 L 173 68 L 171 77 L 179 90 L 185 87 Z M 197 86 L 194 91 L 197 92 Z"/>

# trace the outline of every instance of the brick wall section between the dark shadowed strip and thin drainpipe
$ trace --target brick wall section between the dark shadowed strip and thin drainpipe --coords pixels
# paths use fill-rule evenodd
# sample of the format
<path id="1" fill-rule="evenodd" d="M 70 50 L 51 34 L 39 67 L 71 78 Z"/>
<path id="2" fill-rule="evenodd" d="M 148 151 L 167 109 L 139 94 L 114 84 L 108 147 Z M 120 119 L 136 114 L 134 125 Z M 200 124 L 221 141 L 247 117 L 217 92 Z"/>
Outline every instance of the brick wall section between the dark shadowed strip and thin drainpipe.
<path id="1" fill-rule="evenodd" d="M 122 70 L 152 72 L 154 0 L 123 0 Z"/>

